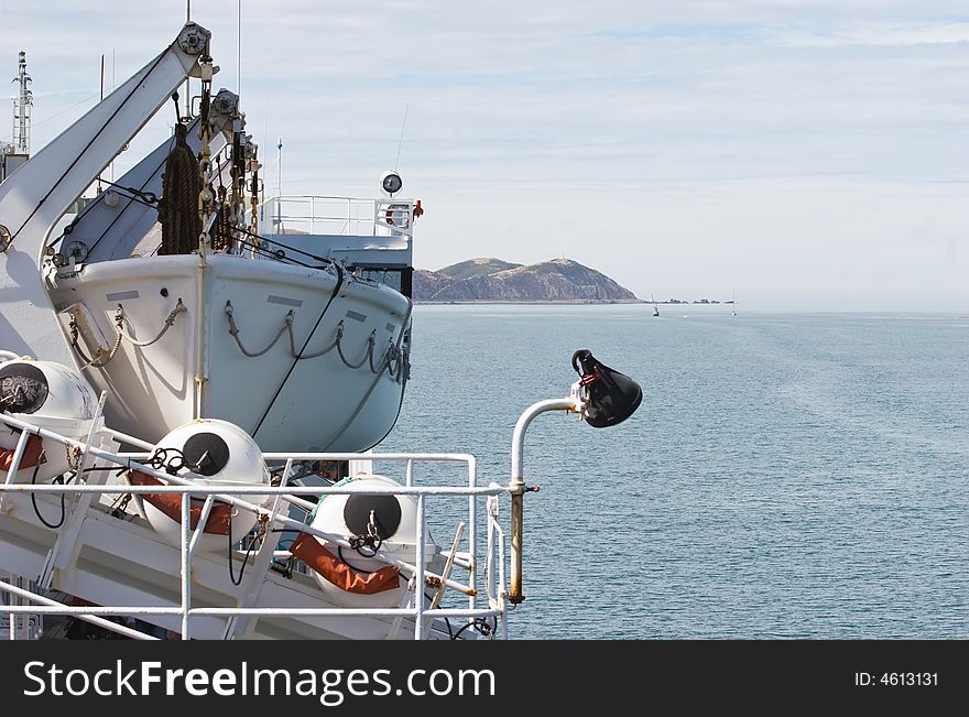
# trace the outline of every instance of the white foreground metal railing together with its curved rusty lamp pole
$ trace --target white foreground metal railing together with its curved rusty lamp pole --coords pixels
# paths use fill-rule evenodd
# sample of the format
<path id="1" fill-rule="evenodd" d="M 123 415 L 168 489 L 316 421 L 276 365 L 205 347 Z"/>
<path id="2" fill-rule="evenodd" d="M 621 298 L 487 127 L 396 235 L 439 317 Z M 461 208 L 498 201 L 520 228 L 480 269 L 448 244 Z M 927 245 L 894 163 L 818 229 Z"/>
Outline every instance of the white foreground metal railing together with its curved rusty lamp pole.
<path id="1" fill-rule="evenodd" d="M 4 356 L 7 352 L 0 354 L 0 357 Z M 578 356 L 578 354 L 577 354 Z M 2 508 L 6 500 L 9 499 L 10 493 L 44 493 L 44 492 L 53 492 L 53 493 L 78 493 L 78 498 L 75 504 L 72 506 L 72 514 L 70 519 L 67 520 L 67 509 L 65 504 L 65 513 L 64 520 L 62 524 L 56 529 L 58 535 L 54 546 L 51 548 L 47 554 L 47 560 L 44 563 L 44 567 L 41 573 L 41 579 L 39 584 L 41 588 L 50 587 L 51 580 L 53 579 L 53 571 L 58 566 L 58 561 L 67 560 L 66 555 L 73 555 L 73 560 L 77 560 L 79 555 L 78 542 L 80 540 L 80 528 L 88 515 L 88 508 L 90 506 L 90 500 L 95 495 L 98 493 L 179 493 L 182 495 L 182 511 L 181 511 L 181 541 L 179 541 L 179 555 L 181 555 L 181 598 L 178 605 L 171 605 L 167 607 L 137 607 L 137 606 L 124 606 L 124 607 L 97 607 L 97 608 L 77 608 L 74 609 L 70 606 L 64 606 L 61 604 L 51 605 L 50 602 L 44 602 L 44 600 L 35 599 L 43 596 L 36 596 L 33 593 L 29 593 L 29 595 L 33 596 L 29 599 L 32 599 L 35 602 L 44 602 L 40 606 L 7 606 L 2 608 L 3 612 L 9 612 L 11 618 L 17 613 L 36 613 L 43 615 L 46 612 L 59 612 L 64 615 L 78 615 L 83 619 L 94 620 L 99 615 L 177 615 L 181 616 L 182 620 L 182 639 L 187 640 L 190 637 L 190 619 L 193 617 L 198 616 L 228 616 L 230 618 L 229 626 L 235 626 L 236 620 L 240 617 L 246 616 L 273 616 L 273 617 L 296 617 L 296 616 L 344 616 L 344 617 L 395 617 L 395 621 L 388 632 L 388 637 L 395 637 L 398 628 L 401 624 L 401 621 L 405 617 L 411 617 L 414 619 L 414 639 L 421 640 L 426 634 L 428 628 L 425 628 L 426 619 L 433 619 L 434 617 L 464 617 L 473 621 L 480 618 L 494 618 L 496 626 L 494 631 L 501 630 L 503 635 L 507 634 L 508 624 L 507 624 L 507 615 L 508 609 L 511 609 L 519 602 L 524 599 L 522 594 L 522 540 L 523 540 L 523 498 L 524 495 L 531 490 L 536 490 L 536 488 L 529 487 L 524 481 L 524 437 L 525 431 L 527 430 L 531 422 L 538 415 L 549 412 L 549 411 L 565 411 L 565 412 L 574 412 L 577 413 L 580 417 L 585 417 L 586 410 L 588 406 L 588 394 L 584 388 L 584 381 L 587 377 L 584 377 L 581 380 L 577 381 L 571 385 L 569 395 L 563 399 L 554 399 L 548 401 L 540 401 L 534 403 L 529 409 L 522 413 L 515 423 L 514 432 L 512 434 L 512 476 L 511 480 L 507 486 L 500 486 L 498 484 L 490 484 L 488 487 L 479 487 L 477 485 L 477 464 L 475 461 L 475 457 L 467 454 L 427 454 L 427 453 L 398 453 L 398 454 L 339 454 L 339 453 L 292 453 L 292 454 L 280 454 L 280 453 L 264 453 L 263 459 L 266 461 L 285 461 L 283 467 L 283 472 L 281 477 L 280 486 L 262 486 L 262 485 L 250 485 L 250 486 L 199 486 L 192 482 L 188 479 L 168 475 L 167 472 L 157 470 L 149 465 L 142 463 L 148 458 L 146 453 L 141 454 L 116 454 L 109 450 L 106 450 L 100 447 L 112 436 L 116 438 L 127 437 L 124 434 L 120 434 L 117 432 L 111 432 L 107 428 L 102 427 L 100 412 L 105 404 L 105 393 L 102 392 L 100 395 L 100 400 L 97 406 L 97 413 L 95 419 L 91 421 L 91 428 L 88 432 L 86 443 L 81 443 L 79 441 L 68 438 L 66 436 L 56 434 L 52 431 L 47 431 L 44 428 L 40 428 L 36 425 L 32 425 L 28 422 L 20 421 L 8 414 L 0 414 L 0 423 L 6 423 L 9 426 L 12 426 L 15 430 L 21 432 L 21 436 L 18 439 L 18 444 L 12 452 L 11 465 L 9 466 L 6 484 L 0 485 L 0 520 L 3 519 Z M 634 408 L 633 408 L 634 410 Z M 622 419 L 624 420 L 624 417 Z M 20 469 L 20 464 L 23 458 L 24 449 L 28 443 L 28 438 L 30 435 L 36 435 L 44 441 L 55 441 L 62 443 L 66 448 L 73 449 L 79 454 L 76 463 L 72 464 L 76 466 L 77 476 L 84 476 L 84 469 L 87 465 L 87 460 L 90 457 L 99 458 L 102 460 L 109 461 L 109 464 L 113 465 L 117 468 L 129 469 L 129 470 L 138 470 L 139 472 L 146 474 L 154 478 L 160 479 L 163 485 L 160 486 L 127 486 L 127 485 L 101 485 L 101 484 L 91 484 L 85 482 L 84 485 L 33 485 L 33 484 L 17 484 L 14 482 L 15 476 Z M 95 443 L 98 445 L 95 445 Z M 142 448 L 151 448 L 149 444 L 145 442 L 134 441 L 134 445 Z M 405 484 L 403 486 L 394 486 L 394 487 L 366 487 L 360 488 L 359 486 L 331 486 L 327 488 L 319 487 L 306 487 L 306 486 L 287 486 L 286 481 L 292 475 L 293 464 L 294 461 L 320 461 L 320 460 L 381 460 L 381 461 L 405 461 Z M 444 487 L 429 487 L 429 486 L 415 486 L 414 485 L 414 461 L 417 460 L 426 460 L 426 461 L 460 461 L 465 463 L 468 467 L 468 485 L 467 486 L 444 486 Z M 96 476 L 98 474 L 95 474 Z M 511 560 L 510 560 L 510 585 L 508 589 L 505 589 L 505 573 L 504 573 L 504 541 L 505 535 L 504 531 L 501 528 L 500 522 L 498 521 L 498 498 L 504 493 L 510 496 L 510 508 L 511 508 L 511 520 L 510 520 L 510 534 L 509 542 L 511 547 Z M 314 503 L 301 498 L 301 496 L 316 496 L 317 501 L 324 496 L 331 495 L 391 495 L 391 496 L 414 496 L 416 498 L 417 503 L 417 520 L 416 520 L 416 529 L 414 536 L 414 563 L 407 563 L 405 561 L 399 560 L 392 555 L 388 555 L 381 551 L 377 551 L 373 554 L 373 557 L 377 560 L 386 563 L 388 565 L 393 565 L 398 567 L 403 574 L 410 575 L 411 580 L 409 582 L 407 594 L 413 596 L 414 606 L 406 607 L 405 602 L 410 602 L 410 599 L 402 600 L 401 606 L 398 608 L 276 608 L 276 607 L 252 607 L 248 605 L 237 605 L 236 607 L 227 607 L 227 608 L 193 608 L 192 607 L 192 554 L 195 546 L 200 539 L 202 533 L 205 530 L 205 523 L 208 520 L 209 511 L 211 510 L 213 503 L 215 500 L 219 500 L 220 502 L 229 503 L 240 510 L 246 510 L 254 513 L 257 515 L 258 521 L 262 521 L 261 532 L 257 535 L 255 540 L 262 539 L 260 548 L 257 553 L 257 558 L 253 567 L 259 566 L 259 569 L 255 571 L 255 577 L 250 577 L 250 583 L 248 587 L 255 587 L 254 579 L 259 578 L 264 580 L 264 577 L 270 567 L 270 561 L 272 557 L 277 554 L 286 555 L 288 552 L 277 552 L 276 547 L 279 544 L 279 537 L 275 541 L 266 537 L 266 526 L 271 528 L 273 531 L 276 530 L 276 526 L 288 530 L 296 530 L 302 533 L 309 534 L 315 537 L 323 539 L 327 543 L 335 544 L 340 547 L 349 547 L 350 545 L 347 536 L 337 535 L 333 533 L 328 533 L 325 531 L 317 530 L 312 525 L 307 525 L 305 521 L 297 521 L 287 515 L 283 515 L 281 512 L 281 508 L 283 504 L 295 506 L 298 508 L 303 508 L 305 510 L 312 510 L 314 508 Z M 186 500 L 185 497 L 189 497 L 189 500 Z M 274 497 L 272 509 L 266 509 L 261 504 L 257 504 L 250 502 L 241 496 L 260 496 L 263 501 L 268 497 Z M 436 496 L 467 496 L 468 497 L 468 552 L 466 554 L 457 553 L 457 547 L 459 545 L 460 534 L 464 530 L 464 525 L 460 525 L 458 529 L 458 535 L 455 539 L 454 547 L 451 552 L 447 555 L 446 567 L 442 572 L 442 575 L 436 575 L 425 567 L 424 561 L 424 526 L 426 522 L 425 515 L 425 499 L 427 497 L 436 497 Z M 189 504 L 192 497 L 204 497 L 205 502 L 202 509 L 202 513 L 199 515 L 199 520 L 197 522 L 197 526 L 195 528 L 195 533 L 192 531 L 192 523 L 189 519 Z M 486 588 L 486 597 L 488 598 L 488 606 L 486 608 L 479 608 L 476 604 L 477 598 L 477 531 L 476 531 L 476 518 L 477 518 L 477 500 L 480 498 L 487 498 L 488 500 L 488 544 L 486 548 L 486 561 L 484 561 L 484 576 L 483 584 Z M 251 532 L 250 532 L 251 535 Z M 497 555 L 496 555 L 497 553 Z M 292 553 L 288 553 L 292 556 Z M 459 566 L 468 571 L 469 579 L 468 584 L 461 584 L 450 578 L 449 571 L 453 566 Z M 497 571 L 496 571 L 497 567 Z M 439 596 L 436 596 L 435 599 L 432 599 L 432 606 L 427 609 L 424 607 L 424 587 L 426 584 L 425 578 L 432 577 L 434 578 L 434 583 L 432 587 L 438 587 L 438 589 L 443 590 L 445 588 L 450 588 L 451 590 L 456 590 L 460 594 L 464 594 L 468 598 L 468 607 L 467 608 L 439 608 L 437 607 L 437 600 Z M 260 583 L 261 585 L 261 583 Z M 20 589 L 20 588 L 17 588 Z M 11 595 L 17 595 L 18 597 L 24 597 L 20 595 L 14 589 L 14 586 L 11 586 L 2 580 L 0 580 L 0 590 L 9 593 Z M 243 590 L 246 596 L 255 595 L 252 589 Z M 46 598 L 44 598 L 46 599 Z M 227 627 L 226 634 L 233 634 L 235 627 L 229 629 Z M 11 629 L 11 637 L 15 630 Z"/>

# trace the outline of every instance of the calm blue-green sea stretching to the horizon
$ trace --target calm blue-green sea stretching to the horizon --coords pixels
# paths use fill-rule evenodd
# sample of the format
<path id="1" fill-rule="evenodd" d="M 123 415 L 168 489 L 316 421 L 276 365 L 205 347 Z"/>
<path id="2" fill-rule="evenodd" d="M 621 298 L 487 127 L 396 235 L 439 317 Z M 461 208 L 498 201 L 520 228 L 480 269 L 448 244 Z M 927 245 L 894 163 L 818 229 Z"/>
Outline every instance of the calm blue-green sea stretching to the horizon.
<path id="1" fill-rule="evenodd" d="M 380 450 L 472 453 L 504 482 L 575 349 L 643 387 L 614 428 L 532 424 L 510 635 L 969 638 L 969 315 L 651 311 L 415 309 Z M 435 506 L 438 543 L 462 504 Z"/>

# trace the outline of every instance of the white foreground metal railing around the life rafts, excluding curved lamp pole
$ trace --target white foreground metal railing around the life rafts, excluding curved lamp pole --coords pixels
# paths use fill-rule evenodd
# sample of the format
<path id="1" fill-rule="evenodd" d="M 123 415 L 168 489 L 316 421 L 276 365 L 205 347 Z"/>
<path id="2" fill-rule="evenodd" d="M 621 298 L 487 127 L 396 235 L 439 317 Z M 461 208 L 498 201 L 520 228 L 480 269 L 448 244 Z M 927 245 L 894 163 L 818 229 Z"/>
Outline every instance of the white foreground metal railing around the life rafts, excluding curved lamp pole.
<path id="1" fill-rule="evenodd" d="M 0 580 L 0 591 L 24 599 L 32 605 L 8 605 L 0 610 L 11 616 L 10 637 L 15 638 L 17 620 L 14 617 L 19 613 L 26 615 L 66 615 L 75 616 L 88 622 L 96 623 L 100 627 L 113 630 L 126 637 L 134 639 L 154 639 L 144 632 L 115 623 L 106 620 L 107 617 L 123 616 L 178 616 L 181 618 L 181 638 L 188 640 L 192 638 L 192 619 L 195 617 L 227 617 L 231 620 L 240 620 L 244 618 L 264 618 L 264 617 L 372 617 L 372 618 L 395 618 L 388 638 L 395 638 L 401 629 L 404 619 L 411 618 L 414 621 L 414 639 L 426 639 L 432 630 L 433 620 L 436 618 L 464 618 L 472 624 L 477 624 L 480 620 L 492 619 L 493 627 L 491 629 L 492 637 L 507 637 L 507 589 L 504 582 L 504 533 L 498 522 L 498 501 L 505 493 L 513 493 L 512 486 L 500 486 L 490 484 L 489 486 L 477 485 L 477 463 L 473 456 L 468 454 L 431 454 L 431 453 L 394 453 L 394 454 L 339 454 L 339 453 L 300 453 L 300 454 L 276 454 L 266 453 L 263 457 L 269 463 L 283 463 L 281 485 L 250 485 L 250 486 L 200 486 L 193 484 L 190 480 L 178 476 L 170 475 L 164 470 L 159 470 L 143 463 L 148 459 L 148 453 L 113 453 L 101 446 L 109 445 L 111 437 L 124 436 L 117 432 L 106 428 L 100 431 L 91 430 L 86 443 L 75 441 L 73 438 L 59 435 L 52 431 L 40 428 L 36 425 L 21 421 L 7 414 L 0 414 L 0 422 L 17 428 L 21 432 L 21 436 L 17 448 L 14 449 L 11 464 L 7 471 L 6 482 L 0 485 L 0 502 L 11 493 L 54 493 L 54 495 L 72 495 L 77 496 L 73 504 L 65 511 L 65 518 L 62 525 L 56 529 L 58 533 L 54 546 L 51 548 L 41 576 L 35 580 L 36 589 L 25 589 L 11 585 L 10 583 Z M 96 422 L 98 423 L 98 422 Z M 55 441 L 64 444 L 68 449 L 80 452 L 77 463 L 76 475 L 87 476 L 87 482 L 77 485 L 52 485 L 52 484 L 17 484 L 14 477 L 20 469 L 20 463 L 23 457 L 24 446 L 30 435 L 36 435 L 42 441 Z M 126 436 L 129 437 L 130 436 Z M 148 444 L 138 442 L 140 447 L 144 448 Z M 297 461 L 320 461 L 320 460 L 371 460 L 371 461 L 398 461 L 404 464 L 405 482 L 400 487 L 353 487 L 350 485 L 316 487 L 316 486 L 290 486 L 286 480 L 293 475 L 294 465 Z M 126 469 L 137 470 L 149 476 L 157 478 L 166 485 L 161 486 L 134 486 L 124 484 L 106 484 L 99 482 L 105 480 L 106 468 L 98 466 L 98 470 L 86 472 L 89 461 L 104 460 L 109 464 L 108 470 Z M 414 465 L 418 461 L 449 461 L 459 463 L 467 466 L 468 482 L 466 486 L 416 486 L 414 485 Z M 58 602 L 41 593 L 46 591 L 52 586 L 53 571 L 63 568 L 65 561 L 77 560 L 79 555 L 79 541 L 81 524 L 87 517 L 87 511 L 91 500 L 100 495 L 143 495 L 143 493 L 178 493 L 183 496 L 181 501 L 181 600 L 177 605 L 171 606 L 69 606 Z M 394 565 L 400 568 L 402 575 L 410 576 L 407 596 L 401 601 L 396 608 L 285 608 L 285 607 L 255 607 L 242 605 L 236 607 L 192 607 L 192 556 L 198 540 L 202 537 L 206 520 L 213 503 L 218 500 L 229 503 L 240 510 L 255 513 L 264 524 L 271 529 L 265 530 L 261 545 L 253 553 L 253 564 L 250 567 L 249 583 L 240 590 L 241 595 L 255 595 L 259 584 L 265 578 L 270 564 L 273 558 L 292 557 L 288 551 L 277 550 L 280 536 L 283 530 L 300 531 L 308 533 L 339 545 L 341 547 L 351 547 L 347 537 L 320 531 L 312 528 L 304 521 L 298 521 L 288 517 L 288 506 L 312 510 L 315 503 L 307 498 L 316 497 L 322 500 L 325 496 L 337 495 L 393 495 L 393 496 L 413 496 L 417 507 L 416 530 L 415 530 L 415 553 L 414 562 L 409 563 L 391 555 L 378 552 L 374 557 Z M 189 500 L 184 497 L 188 496 Z M 272 507 L 266 508 L 264 504 L 246 500 L 246 496 L 258 496 L 260 500 L 266 501 L 272 498 Z M 466 496 L 468 498 L 468 517 L 467 517 L 467 552 L 457 550 L 465 524 L 461 523 L 456 535 L 455 543 L 447 554 L 442 554 L 446 558 L 446 569 L 444 574 L 435 574 L 425 565 L 425 503 L 427 498 Z M 192 529 L 190 521 L 190 499 L 204 499 L 202 513 L 197 520 L 196 528 Z M 484 574 L 482 576 L 484 584 L 484 597 L 487 605 L 478 605 L 478 590 L 476 584 L 477 576 L 477 507 L 478 501 L 484 499 L 488 504 L 488 522 L 487 522 L 487 552 L 484 555 Z M 269 502 L 269 501 L 266 501 Z M 450 578 L 449 572 L 453 566 L 458 566 L 468 572 L 469 578 L 467 583 L 460 583 Z M 437 589 L 435 599 L 432 600 L 429 607 L 424 605 L 424 588 L 432 587 Z M 451 589 L 467 598 L 467 607 L 460 608 L 442 608 L 438 607 L 439 598 L 445 589 Z M 413 602 L 413 605 L 411 605 Z M 237 622 L 233 622 L 233 628 Z M 226 637 L 232 637 L 227 631 Z"/>

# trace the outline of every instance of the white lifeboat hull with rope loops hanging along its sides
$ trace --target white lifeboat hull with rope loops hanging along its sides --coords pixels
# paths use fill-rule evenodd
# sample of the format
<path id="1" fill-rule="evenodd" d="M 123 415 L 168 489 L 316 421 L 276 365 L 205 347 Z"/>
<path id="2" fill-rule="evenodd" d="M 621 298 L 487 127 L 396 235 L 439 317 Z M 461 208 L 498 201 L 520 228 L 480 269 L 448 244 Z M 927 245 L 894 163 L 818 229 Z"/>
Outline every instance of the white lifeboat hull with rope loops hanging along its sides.
<path id="1" fill-rule="evenodd" d="M 358 452 L 396 421 L 410 301 L 388 286 L 219 253 L 62 268 L 48 283 L 78 367 L 111 396 L 108 424 L 141 438 L 205 417 L 265 452 Z"/>

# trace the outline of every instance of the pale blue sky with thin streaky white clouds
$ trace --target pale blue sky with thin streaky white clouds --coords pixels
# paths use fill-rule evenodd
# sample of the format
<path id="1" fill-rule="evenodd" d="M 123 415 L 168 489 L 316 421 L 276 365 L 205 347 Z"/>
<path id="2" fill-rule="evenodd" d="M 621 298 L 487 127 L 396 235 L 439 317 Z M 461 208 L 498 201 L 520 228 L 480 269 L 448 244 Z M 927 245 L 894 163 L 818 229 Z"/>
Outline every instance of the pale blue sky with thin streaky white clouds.
<path id="1" fill-rule="evenodd" d="M 266 183 L 374 196 L 396 166 L 426 210 L 420 268 L 565 256 L 643 298 L 969 309 L 962 1 L 241 0 L 241 33 L 239 7 L 192 17 Z M 184 1 L 0 0 L 32 149 L 94 106 L 101 54 L 110 89 L 184 20 Z"/>

